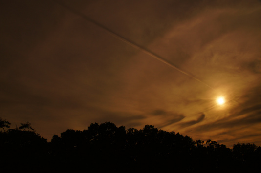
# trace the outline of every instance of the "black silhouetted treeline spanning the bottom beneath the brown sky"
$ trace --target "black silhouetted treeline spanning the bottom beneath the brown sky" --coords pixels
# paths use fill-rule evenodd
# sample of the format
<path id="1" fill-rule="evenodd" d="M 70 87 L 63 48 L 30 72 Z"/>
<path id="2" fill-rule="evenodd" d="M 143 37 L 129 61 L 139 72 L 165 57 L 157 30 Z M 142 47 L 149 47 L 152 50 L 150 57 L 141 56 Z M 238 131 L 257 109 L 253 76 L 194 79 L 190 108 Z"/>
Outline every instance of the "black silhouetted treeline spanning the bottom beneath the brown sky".
<path id="1" fill-rule="evenodd" d="M 261 172 L 255 144 L 230 149 L 152 125 L 126 130 L 110 122 L 68 129 L 47 142 L 29 122 L 7 131 L 10 123 L 0 122 L 1 172 Z"/>

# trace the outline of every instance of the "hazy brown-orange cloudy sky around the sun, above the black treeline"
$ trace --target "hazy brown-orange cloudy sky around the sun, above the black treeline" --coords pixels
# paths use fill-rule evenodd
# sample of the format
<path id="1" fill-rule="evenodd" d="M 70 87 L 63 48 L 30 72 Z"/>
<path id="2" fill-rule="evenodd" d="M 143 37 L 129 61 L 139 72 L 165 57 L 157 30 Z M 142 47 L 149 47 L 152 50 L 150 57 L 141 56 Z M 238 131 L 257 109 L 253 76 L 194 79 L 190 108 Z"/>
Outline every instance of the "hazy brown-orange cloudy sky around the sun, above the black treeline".
<path id="1" fill-rule="evenodd" d="M 260 31 L 259 0 L 1 0 L 0 116 L 261 145 Z"/>

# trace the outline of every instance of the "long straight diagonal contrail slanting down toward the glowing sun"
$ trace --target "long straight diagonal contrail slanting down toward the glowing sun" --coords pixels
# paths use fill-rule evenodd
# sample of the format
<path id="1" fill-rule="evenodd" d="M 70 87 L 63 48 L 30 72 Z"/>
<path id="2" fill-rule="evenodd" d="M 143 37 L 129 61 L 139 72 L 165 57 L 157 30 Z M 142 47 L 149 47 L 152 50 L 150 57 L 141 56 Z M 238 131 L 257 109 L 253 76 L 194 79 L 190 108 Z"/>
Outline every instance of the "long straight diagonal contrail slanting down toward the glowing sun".
<path id="1" fill-rule="evenodd" d="M 177 70 L 177 71 L 179 71 L 179 72 L 181 72 L 181 73 L 187 75 L 188 77 L 192 77 L 192 78 L 194 78 L 195 80 L 197 80 L 198 82 L 204 84 L 205 86 L 207 86 L 207 87 L 209 87 L 209 88 L 215 90 L 214 88 L 212 88 L 211 86 L 209 86 L 209 85 L 206 84 L 205 82 L 199 80 L 198 78 L 194 77 L 194 76 L 191 75 L 191 74 L 188 74 L 187 72 L 184 72 L 184 71 L 181 70 L 180 68 L 178 68 L 178 67 L 174 66 L 173 64 L 171 64 L 170 62 L 166 61 L 164 58 L 162 58 L 162 57 L 156 55 L 155 53 L 151 52 L 150 50 L 148 50 L 148 49 L 146 49 L 146 48 L 144 48 L 144 47 L 142 47 L 142 46 L 140 46 L 140 45 L 138 45 L 138 44 L 136 44 L 136 43 L 134 43 L 134 42 L 128 40 L 127 38 L 124 38 L 123 36 L 120 36 L 119 34 L 117 34 L 117 33 L 113 32 L 113 31 L 111 31 L 111 30 L 110 30 L 109 28 L 107 28 L 106 26 L 104 26 L 104 25 L 102 25 L 101 23 L 98 23 L 97 21 L 95 21 L 95 20 L 93 20 L 93 19 L 87 17 L 87 16 L 84 15 L 83 13 L 78 12 L 78 11 L 76 11 L 76 10 L 74 10 L 74 9 L 72 9 L 72 8 L 70 8 L 70 7 L 68 7 L 67 5 L 65 5 L 65 4 L 63 4 L 63 3 L 58 2 L 58 1 L 54 1 L 54 2 L 56 2 L 57 4 L 63 6 L 65 9 L 71 11 L 72 13 L 74 13 L 74 14 L 76 14 L 76 15 L 78 15 L 78 16 L 81 16 L 82 18 L 88 20 L 89 22 L 95 24 L 96 26 L 98 26 L 98 27 L 104 29 L 104 31 L 106 31 L 107 33 L 109 33 L 109 34 L 112 35 L 113 37 L 118 38 L 118 39 L 121 40 L 121 41 L 124 41 L 125 43 L 131 45 L 132 47 L 134 47 L 134 48 L 136 48 L 136 49 L 138 49 L 138 50 L 141 50 L 142 52 L 144 52 L 145 54 L 151 56 L 152 58 L 155 58 L 155 59 L 157 59 L 157 60 L 159 60 L 159 61 L 161 61 L 161 62 L 163 62 L 163 63 L 169 65 L 170 67 L 174 68 L 175 70 Z"/>

